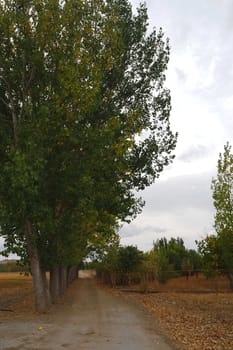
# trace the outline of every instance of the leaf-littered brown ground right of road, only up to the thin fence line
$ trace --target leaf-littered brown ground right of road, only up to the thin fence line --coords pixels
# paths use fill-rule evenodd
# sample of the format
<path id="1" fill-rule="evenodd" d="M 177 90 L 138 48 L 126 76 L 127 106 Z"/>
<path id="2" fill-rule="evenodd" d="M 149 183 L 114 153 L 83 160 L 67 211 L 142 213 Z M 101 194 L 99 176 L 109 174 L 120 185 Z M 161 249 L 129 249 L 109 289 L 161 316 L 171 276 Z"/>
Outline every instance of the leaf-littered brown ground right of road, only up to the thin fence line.
<path id="1" fill-rule="evenodd" d="M 180 349 L 233 349 L 233 294 L 124 294 L 152 312 Z"/>

